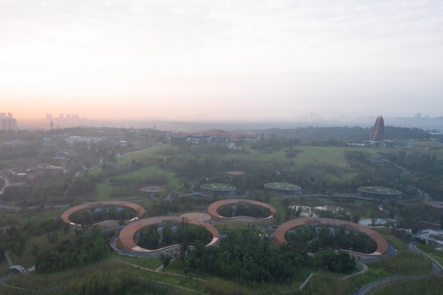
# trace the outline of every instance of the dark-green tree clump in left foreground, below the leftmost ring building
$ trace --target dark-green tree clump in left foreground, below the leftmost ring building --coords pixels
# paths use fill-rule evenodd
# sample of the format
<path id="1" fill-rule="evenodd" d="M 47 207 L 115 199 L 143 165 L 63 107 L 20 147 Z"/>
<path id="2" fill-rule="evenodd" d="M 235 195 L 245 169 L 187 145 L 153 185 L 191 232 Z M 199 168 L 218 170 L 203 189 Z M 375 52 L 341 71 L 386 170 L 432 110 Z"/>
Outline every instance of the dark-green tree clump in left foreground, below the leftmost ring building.
<path id="1" fill-rule="evenodd" d="M 76 235 L 64 240 L 54 250 L 46 250 L 35 258 L 37 273 L 51 273 L 97 262 L 108 255 L 106 235 L 93 230 L 91 235 Z"/>

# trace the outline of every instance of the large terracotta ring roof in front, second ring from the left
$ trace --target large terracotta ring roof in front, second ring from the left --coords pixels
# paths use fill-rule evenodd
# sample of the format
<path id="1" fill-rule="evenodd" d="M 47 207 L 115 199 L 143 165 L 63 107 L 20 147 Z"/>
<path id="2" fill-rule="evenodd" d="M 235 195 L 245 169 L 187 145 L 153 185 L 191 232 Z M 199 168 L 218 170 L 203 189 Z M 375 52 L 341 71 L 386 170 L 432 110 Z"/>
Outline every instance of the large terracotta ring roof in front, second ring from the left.
<path id="1" fill-rule="evenodd" d="M 133 222 L 126 226 L 125 228 L 120 231 L 119 238 L 117 240 L 117 246 L 121 249 L 124 249 L 129 252 L 133 253 L 158 253 L 162 251 L 168 251 L 168 250 L 176 250 L 177 247 L 180 247 L 180 245 L 170 245 L 164 248 L 160 249 L 145 249 L 140 246 L 138 246 L 135 243 L 137 232 L 153 225 L 166 225 L 166 223 L 180 223 L 182 222 L 182 218 L 178 216 L 158 216 L 158 217 L 151 217 L 151 218 L 145 218 L 140 219 L 136 222 Z M 198 221 L 189 219 L 188 222 L 191 225 L 197 225 L 204 227 L 209 233 L 212 235 L 211 242 L 209 242 L 206 247 L 213 246 L 217 244 L 220 240 L 220 234 L 219 231 L 214 228 L 212 225 Z"/>

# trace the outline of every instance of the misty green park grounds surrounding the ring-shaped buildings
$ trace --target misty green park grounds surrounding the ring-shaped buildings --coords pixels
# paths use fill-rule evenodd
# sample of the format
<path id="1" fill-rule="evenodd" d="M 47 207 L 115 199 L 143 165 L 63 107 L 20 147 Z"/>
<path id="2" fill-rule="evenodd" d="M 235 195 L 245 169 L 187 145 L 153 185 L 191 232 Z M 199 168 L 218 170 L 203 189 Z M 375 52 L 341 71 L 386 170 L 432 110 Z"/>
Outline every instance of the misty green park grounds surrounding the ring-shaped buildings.
<path id="1" fill-rule="evenodd" d="M 99 131 L 131 146 L 107 139 L 95 146 L 72 147 L 63 139 L 63 134 L 87 137 Z M 7 171 L 15 167 L 37 163 L 69 167 L 66 172 L 36 177 L 26 187 L 7 186 L 0 195 L 5 207 L 0 209 L 2 294 L 355 294 L 372 282 L 384 284 L 366 294 L 442 290 L 442 270 L 433 268 L 429 259 L 443 264 L 442 252 L 419 243 L 420 252 L 414 248 L 420 241 L 412 238 L 419 229 L 443 225 L 441 209 L 425 204 L 442 197 L 441 138 L 386 127 L 388 144 L 352 145 L 367 130 L 347 140 L 330 137 L 328 128 L 322 134 L 303 129 L 300 137 L 294 130 L 263 130 L 261 140 L 230 149 L 219 143 L 174 145 L 167 131 L 129 131 L 75 128 L 2 134 L 3 141 L 27 138 L 31 146 L 2 150 L 6 179 L 11 178 Z M 38 140 L 48 134 L 58 146 L 43 149 Z M 51 153 L 61 148 L 75 149 L 77 157 L 53 159 Z M 244 177 L 228 177 L 228 171 L 242 171 Z M 0 181 L 5 184 L 4 178 Z M 295 184 L 302 192 L 285 196 L 263 191 L 270 182 Z M 235 195 L 201 193 L 200 187 L 208 183 L 235 187 Z M 164 190 L 147 194 L 140 190 L 146 186 Z M 357 188 L 365 186 L 393 188 L 403 195 L 359 198 Z M 144 257 L 136 252 L 122 255 L 110 246 L 134 217 L 142 221 L 203 213 L 212 203 L 232 198 L 262 202 L 277 212 L 271 214 L 259 205 L 221 207 L 218 212 L 225 217 L 246 215 L 255 221 L 212 220 L 221 235 L 217 246 L 205 247 L 211 237 L 186 219 L 138 233 L 141 248 L 175 244 L 176 252 Z M 146 213 L 138 216 L 127 208 L 109 206 L 77 211 L 74 219 L 79 226 L 61 219 L 67 209 L 97 201 L 134 202 Z M 240 213 L 235 215 L 237 210 Z M 272 218 L 265 220 L 269 214 Z M 272 241 L 275 229 L 299 218 L 355 224 L 369 220 L 368 227 L 392 251 L 377 258 L 349 255 L 370 254 L 374 245 L 368 236 L 340 226 L 293 228 L 283 245 Z M 6 256 L 35 270 L 10 274 Z"/>

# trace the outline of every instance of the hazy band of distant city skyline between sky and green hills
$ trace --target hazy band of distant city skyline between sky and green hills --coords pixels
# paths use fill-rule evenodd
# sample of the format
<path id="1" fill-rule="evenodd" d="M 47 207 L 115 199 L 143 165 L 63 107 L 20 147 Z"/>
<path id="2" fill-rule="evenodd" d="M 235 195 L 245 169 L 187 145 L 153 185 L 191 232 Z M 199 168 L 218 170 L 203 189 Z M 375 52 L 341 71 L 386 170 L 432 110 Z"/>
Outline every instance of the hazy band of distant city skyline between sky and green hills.
<path id="1" fill-rule="evenodd" d="M 1 114 L 0 114 L 1 115 Z M 69 115 L 69 116 L 68 116 Z M 12 114 L 11 114 L 12 116 Z M 18 129 L 49 129 L 51 122 L 53 128 L 68 127 L 117 127 L 117 128 L 155 128 L 158 130 L 198 131 L 200 129 L 223 129 L 223 130 L 252 130 L 268 128 L 298 128 L 298 127 L 362 127 L 370 128 L 378 116 L 322 116 L 310 113 L 307 115 L 294 116 L 291 120 L 137 120 L 137 119 L 90 119 L 82 118 L 77 114 L 59 113 L 53 115 L 46 113 L 42 118 L 19 120 Z M 384 117 L 386 126 L 420 128 L 430 131 L 443 131 L 443 116 L 430 117 L 420 113 L 411 117 Z M 207 127 L 203 127 L 207 126 Z"/>

